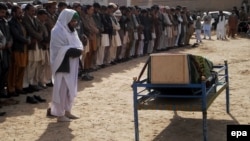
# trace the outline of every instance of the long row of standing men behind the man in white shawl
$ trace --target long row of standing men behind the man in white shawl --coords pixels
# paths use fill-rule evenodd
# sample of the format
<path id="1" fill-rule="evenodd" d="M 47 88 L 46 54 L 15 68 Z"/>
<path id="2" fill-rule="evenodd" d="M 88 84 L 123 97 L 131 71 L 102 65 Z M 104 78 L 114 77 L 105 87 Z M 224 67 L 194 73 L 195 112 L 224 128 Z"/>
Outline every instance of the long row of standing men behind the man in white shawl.
<path id="1" fill-rule="evenodd" d="M 0 3 L 1 98 L 53 86 L 50 33 L 65 8 L 80 15 L 76 30 L 84 45 L 79 60 L 79 77 L 84 81 L 94 79 L 90 75 L 93 70 L 169 47 L 189 45 L 194 33 L 194 19 L 187 7 L 182 6 L 154 5 L 141 9 L 114 3 L 107 6 Z M 31 98 L 28 103 L 36 102 Z"/>

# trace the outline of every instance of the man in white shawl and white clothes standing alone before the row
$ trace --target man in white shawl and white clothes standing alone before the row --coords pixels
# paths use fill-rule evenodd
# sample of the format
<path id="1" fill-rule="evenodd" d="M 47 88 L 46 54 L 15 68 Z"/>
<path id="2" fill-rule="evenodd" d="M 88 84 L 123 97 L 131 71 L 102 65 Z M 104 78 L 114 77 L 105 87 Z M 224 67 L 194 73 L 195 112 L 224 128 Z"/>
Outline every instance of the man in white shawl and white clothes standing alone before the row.
<path id="1" fill-rule="evenodd" d="M 71 114 L 77 95 L 79 57 L 83 45 L 75 27 L 79 15 L 75 10 L 64 9 L 51 31 L 50 63 L 54 87 L 50 114 L 59 122 L 69 122 L 78 117 Z"/>

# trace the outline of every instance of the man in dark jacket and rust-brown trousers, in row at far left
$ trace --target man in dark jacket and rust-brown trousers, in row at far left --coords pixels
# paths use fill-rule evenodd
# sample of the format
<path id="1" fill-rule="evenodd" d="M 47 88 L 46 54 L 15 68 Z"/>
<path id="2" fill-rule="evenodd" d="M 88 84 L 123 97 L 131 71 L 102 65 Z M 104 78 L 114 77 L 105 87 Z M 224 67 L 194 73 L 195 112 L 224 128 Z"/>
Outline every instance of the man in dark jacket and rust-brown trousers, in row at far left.
<path id="1" fill-rule="evenodd" d="M 23 78 L 25 68 L 28 65 L 27 45 L 30 39 L 22 23 L 22 9 L 13 6 L 11 9 L 12 18 L 9 22 L 10 31 L 15 42 L 12 46 L 11 67 L 8 74 L 8 91 L 10 95 L 26 93 L 23 91 Z"/>

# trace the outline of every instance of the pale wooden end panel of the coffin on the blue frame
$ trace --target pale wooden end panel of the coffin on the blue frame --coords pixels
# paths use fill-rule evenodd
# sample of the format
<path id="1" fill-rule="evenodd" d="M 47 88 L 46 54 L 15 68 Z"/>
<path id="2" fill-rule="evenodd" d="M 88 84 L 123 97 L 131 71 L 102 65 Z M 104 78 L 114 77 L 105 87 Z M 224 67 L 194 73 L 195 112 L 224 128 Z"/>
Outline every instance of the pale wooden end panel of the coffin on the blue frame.
<path id="1" fill-rule="evenodd" d="M 189 84 L 188 55 L 151 54 L 148 75 L 152 84 Z"/>

